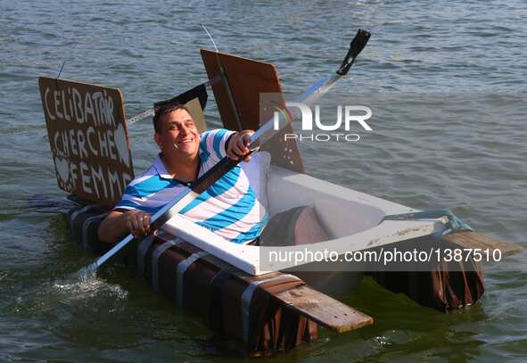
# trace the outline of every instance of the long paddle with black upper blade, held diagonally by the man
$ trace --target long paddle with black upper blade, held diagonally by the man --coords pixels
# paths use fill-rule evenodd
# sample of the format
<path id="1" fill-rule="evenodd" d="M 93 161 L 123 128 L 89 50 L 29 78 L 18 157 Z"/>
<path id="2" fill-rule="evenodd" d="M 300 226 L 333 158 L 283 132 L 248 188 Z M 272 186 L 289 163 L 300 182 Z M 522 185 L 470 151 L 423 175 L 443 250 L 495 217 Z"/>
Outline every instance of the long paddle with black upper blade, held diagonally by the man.
<path id="1" fill-rule="evenodd" d="M 344 58 L 342 66 L 337 70 L 336 74 L 320 78 L 313 86 L 309 87 L 300 97 L 297 102 L 311 102 L 320 95 L 323 95 L 330 87 L 333 86 L 342 76 L 348 73 L 350 66 L 355 61 L 355 58 L 364 48 L 369 39 L 370 34 L 365 30 L 358 30 L 357 35 L 353 38 L 350 43 L 350 51 Z M 257 144 L 259 144 L 260 138 L 271 131 L 274 128 L 274 118 L 268 120 L 262 127 L 260 127 L 254 134 L 251 135 L 251 144 L 249 145 L 250 150 L 255 150 Z M 288 120 L 280 122 L 280 129 L 287 125 Z M 273 134 L 274 134 L 273 133 Z M 167 203 L 161 210 L 158 210 L 151 219 L 150 231 L 153 233 L 156 229 L 165 224 L 169 219 L 175 216 L 179 210 L 182 210 L 189 202 L 192 202 L 200 194 L 202 194 L 207 188 L 212 186 L 218 181 L 219 178 L 223 177 L 230 169 L 233 169 L 242 159 L 234 161 L 228 157 L 223 158 L 214 167 L 208 170 L 202 177 L 198 178 L 191 186 L 185 187 L 185 189 L 177 194 L 177 196 L 169 203 Z M 134 239 L 133 235 L 128 235 L 119 243 L 115 244 L 109 252 L 106 252 L 98 260 L 87 267 L 88 271 L 95 271 L 101 268 L 106 262 L 111 260 L 112 257 L 116 256 L 117 253 L 123 249 L 128 243 Z"/>

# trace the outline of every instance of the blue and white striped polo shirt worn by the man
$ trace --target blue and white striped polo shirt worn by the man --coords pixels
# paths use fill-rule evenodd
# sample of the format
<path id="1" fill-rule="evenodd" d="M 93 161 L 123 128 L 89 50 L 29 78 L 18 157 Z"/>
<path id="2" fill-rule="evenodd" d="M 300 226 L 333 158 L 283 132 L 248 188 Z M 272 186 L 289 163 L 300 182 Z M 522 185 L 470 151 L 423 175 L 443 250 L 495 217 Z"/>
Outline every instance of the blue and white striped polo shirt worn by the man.
<path id="1" fill-rule="evenodd" d="M 234 133 L 224 128 L 202 133 L 198 177 L 226 156 L 226 141 Z M 152 166 L 126 188 L 115 210 L 141 210 L 151 215 L 179 194 L 185 185 L 172 178 L 158 156 Z M 243 168 L 237 165 L 179 212 L 199 226 L 234 243 L 249 243 L 268 221 Z"/>

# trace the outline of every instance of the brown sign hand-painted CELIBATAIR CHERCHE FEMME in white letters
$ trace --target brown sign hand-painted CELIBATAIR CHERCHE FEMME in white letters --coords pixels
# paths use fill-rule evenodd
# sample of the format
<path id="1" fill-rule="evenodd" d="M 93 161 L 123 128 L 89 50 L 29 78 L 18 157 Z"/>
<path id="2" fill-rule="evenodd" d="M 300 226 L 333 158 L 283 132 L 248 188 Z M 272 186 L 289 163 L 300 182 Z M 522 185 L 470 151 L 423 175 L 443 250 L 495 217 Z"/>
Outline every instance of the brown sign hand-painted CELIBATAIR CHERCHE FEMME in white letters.
<path id="1" fill-rule="evenodd" d="M 119 202 L 134 178 L 119 89 L 38 78 L 58 185 L 86 201 Z"/>

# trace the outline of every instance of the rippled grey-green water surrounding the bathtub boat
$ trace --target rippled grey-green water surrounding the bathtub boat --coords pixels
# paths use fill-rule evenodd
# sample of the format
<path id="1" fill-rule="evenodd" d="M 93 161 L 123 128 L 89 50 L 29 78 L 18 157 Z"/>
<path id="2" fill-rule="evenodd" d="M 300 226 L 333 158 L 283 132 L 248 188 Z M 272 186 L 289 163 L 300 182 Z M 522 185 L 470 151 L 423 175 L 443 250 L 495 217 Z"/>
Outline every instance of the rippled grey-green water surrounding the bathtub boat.
<path id="1" fill-rule="evenodd" d="M 206 79 L 200 47 L 265 62 L 286 91 L 335 69 L 359 27 L 372 38 L 334 95 L 366 104 L 358 143 L 300 144 L 307 172 L 419 209 L 449 208 L 527 247 L 527 5 L 477 1 L 104 2 L 0 0 L 0 361 L 241 361 L 124 268 L 86 284 L 94 256 L 58 214 L 62 197 L 37 78 L 119 87 L 128 117 Z M 219 126 L 212 100 L 210 126 Z M 149 120 L 130 128 L 136 174 L 156 154 Z M 526 254 L 485 265 L 486 293 L 448 314 L 372 280 L 342 301 L 375 318 L 273 361 L 527 360 Z M 261 359 L 262 361 L 267 359 Z"/>

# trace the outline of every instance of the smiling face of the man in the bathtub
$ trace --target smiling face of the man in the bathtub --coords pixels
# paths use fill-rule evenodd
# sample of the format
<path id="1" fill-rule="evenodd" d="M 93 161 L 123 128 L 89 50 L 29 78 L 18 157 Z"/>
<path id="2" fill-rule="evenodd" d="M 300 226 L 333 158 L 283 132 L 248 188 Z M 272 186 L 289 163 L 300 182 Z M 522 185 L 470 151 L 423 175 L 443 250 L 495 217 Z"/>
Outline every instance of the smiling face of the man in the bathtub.
<path id="1" fill-rule="evenodd" d="M 190 113 L 177 109 L 161 116 L 161 132 L 154 134 L 163 156 L 192 159 L 200 148 L 200 134 Z"/>

